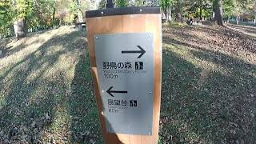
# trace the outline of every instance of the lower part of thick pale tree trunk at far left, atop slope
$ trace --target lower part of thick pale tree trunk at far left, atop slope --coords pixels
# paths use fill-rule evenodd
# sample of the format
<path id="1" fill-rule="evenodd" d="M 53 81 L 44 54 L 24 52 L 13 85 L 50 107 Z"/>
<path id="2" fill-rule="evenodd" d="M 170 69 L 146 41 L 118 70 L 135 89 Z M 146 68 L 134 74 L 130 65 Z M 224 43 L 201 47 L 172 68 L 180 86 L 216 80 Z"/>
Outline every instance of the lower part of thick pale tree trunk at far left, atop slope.
<path id="1" fill-rule="evenodd" d="M 20 18 L 14 21 L 14 32 L 18 39 L 26 37 L 26 18 Z"/>

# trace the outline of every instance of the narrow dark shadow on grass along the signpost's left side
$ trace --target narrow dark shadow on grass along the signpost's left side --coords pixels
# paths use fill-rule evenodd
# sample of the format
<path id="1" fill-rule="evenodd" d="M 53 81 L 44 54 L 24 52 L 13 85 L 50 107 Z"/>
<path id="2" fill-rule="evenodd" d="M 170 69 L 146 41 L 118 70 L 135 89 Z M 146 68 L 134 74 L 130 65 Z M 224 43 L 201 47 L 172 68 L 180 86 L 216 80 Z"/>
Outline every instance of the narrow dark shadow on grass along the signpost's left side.
<path id="1" fill-rule="evenodd" d="M 95 104 L 92 77 L 90 73 L 89 54 L 80 56 L 75 66 L 74 79 L 71 85 L 70 115 L 73 118 L 71 130 L 74 130 L 74 141 L 101 142 L 102 134 L 98 123 L 98 110 Z"/>

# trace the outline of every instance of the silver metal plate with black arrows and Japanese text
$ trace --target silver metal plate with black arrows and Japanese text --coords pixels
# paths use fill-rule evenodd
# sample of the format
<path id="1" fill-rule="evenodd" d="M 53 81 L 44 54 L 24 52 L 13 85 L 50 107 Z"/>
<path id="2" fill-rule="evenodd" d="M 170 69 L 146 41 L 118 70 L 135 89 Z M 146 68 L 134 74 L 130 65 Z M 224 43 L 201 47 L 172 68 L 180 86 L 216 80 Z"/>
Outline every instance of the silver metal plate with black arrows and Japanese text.
<path id="1" fill-rule="evenodd" d="M 154 38 L 152 33 L 94 35 L 106 130 L 152 134 Z"/>

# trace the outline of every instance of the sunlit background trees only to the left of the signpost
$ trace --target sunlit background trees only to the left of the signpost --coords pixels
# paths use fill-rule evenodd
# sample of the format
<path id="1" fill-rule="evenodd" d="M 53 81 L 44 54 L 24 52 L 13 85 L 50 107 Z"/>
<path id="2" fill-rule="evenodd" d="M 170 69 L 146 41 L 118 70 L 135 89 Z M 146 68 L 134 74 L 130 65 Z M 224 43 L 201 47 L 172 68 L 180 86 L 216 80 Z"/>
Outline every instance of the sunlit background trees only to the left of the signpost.
<path id="1" fill-rule="evenodd" d="M 87 0 L 2 0 L 0 37 L 23 38 L 27 33 L 82 22 Z"/>

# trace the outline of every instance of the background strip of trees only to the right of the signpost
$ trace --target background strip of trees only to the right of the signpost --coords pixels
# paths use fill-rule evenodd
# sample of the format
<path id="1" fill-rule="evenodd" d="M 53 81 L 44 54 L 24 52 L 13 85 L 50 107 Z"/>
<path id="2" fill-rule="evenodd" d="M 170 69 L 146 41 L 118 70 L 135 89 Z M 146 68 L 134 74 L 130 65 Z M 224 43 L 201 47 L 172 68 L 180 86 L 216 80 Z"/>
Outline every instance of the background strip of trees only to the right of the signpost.
<path id="1" fill-rule="evenodd" d="M 254 21 L 256 24 L 255 0 L 161 0 L 162 11 L 166 21 L 182 18 L 211 19 L 218 25 L 223 20 Z"/>

